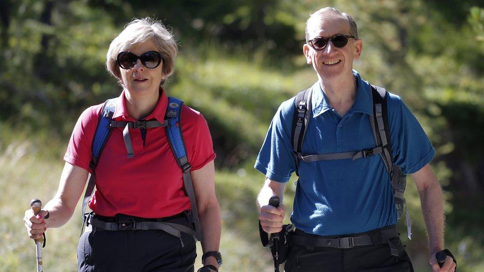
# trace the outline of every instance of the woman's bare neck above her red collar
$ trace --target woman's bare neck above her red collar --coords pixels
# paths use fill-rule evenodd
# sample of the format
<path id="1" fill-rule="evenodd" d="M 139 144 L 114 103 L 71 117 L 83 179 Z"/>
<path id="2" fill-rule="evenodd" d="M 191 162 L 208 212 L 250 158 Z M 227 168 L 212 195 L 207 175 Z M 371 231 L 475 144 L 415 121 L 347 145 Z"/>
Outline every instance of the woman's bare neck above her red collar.
<path id="1" fill-rule="evenodd" d="M 140 120 L 148 116 L 155 109 L 159 93 L 133 96 L 128 91 L 124 91 L 126 98 L 126 109 L 131 118 Z"/>

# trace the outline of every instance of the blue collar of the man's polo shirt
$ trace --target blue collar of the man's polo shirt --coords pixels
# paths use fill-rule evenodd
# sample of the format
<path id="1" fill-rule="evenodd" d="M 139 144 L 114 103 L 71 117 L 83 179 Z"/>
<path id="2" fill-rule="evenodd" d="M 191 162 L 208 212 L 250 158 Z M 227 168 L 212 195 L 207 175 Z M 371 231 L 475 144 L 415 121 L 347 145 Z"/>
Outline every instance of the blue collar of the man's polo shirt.
<path id="1" fill-rule="evenodd" d="M 356 92 L 355 103 L 349 112 L 363 112 L 373 116 L 373 101 L 371 98 L 371 88 L 368 82 L 363 81 L 360 74 L 353 70 L 353 75 L 358 82 L 358 89 Z M 331 106 L 326 99 L 319 80 L 312 86 L 312 116 L 318 115 L 331 109 Z"/>

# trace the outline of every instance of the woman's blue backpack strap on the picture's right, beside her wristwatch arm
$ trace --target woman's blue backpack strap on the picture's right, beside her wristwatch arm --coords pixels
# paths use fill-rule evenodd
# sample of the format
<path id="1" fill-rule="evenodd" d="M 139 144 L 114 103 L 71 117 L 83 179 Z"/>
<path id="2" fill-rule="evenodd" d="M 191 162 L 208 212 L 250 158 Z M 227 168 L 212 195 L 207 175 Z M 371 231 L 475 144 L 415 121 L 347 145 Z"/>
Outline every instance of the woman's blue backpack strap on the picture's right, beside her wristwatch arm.
<path id="1" fill-rule="evenodd" d="M 196 207 L 195 191 L 193 189 L 193 182 L 191 180 L 190 168 L 191 165 L 188 162 L 186 155 L 185 143 L 183 141 L 182 135 L 182 124 L 181 124 L 181 114 L 182 114 L 183 101 L 175 98 L 168 97 L 168 106 L 166 110 L 165 119 L 168 120 L 169 125 L 165 127 L 168 142 L 172 148 L 175 159 L 178 165 L 182 168 L 183 172 L 183 186 L 185 187 L 185 193 L 190 199 L 191 204 L 191 217 L 193 223 L 195 224 L 195 232 L 198 241 L 202 241 L 202 232 L 200 229 L 200 220 L 198 219 L 198 212 Z"/>

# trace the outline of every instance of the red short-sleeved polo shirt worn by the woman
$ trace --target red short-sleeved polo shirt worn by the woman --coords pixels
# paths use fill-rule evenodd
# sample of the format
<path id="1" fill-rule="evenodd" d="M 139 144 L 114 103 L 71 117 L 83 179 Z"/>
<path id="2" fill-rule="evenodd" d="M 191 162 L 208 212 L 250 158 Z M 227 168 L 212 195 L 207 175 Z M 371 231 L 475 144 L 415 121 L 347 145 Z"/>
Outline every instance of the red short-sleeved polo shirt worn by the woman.
<path id="1" fill-rule="evenodd" d="M 124 92 L 117 99 L 113 118 L 135 121 L 128 116 Z M 161 90 L 155 109 L 144 120 L 163 123 L 168 98 Z M 103 104 L 81 114 L 64 155 L 67 163 L 91 172 L 91 146 Z M 183 106 L 182 133 L 191 170 L 215 159 L 207 121 L 200 112 Z M 96 167 L 96 191 L 89 201 L 94 213 L 102 216 L 126 214 L 143 218 L 162 218 L 191 209 L 184 193 L 183 175 L 168 143 L 164 127 L 148 128 L 143 146 L 140 129 L 129 129 L 134 158 L 127 158 L 123 128 L 113 128 Z"/>

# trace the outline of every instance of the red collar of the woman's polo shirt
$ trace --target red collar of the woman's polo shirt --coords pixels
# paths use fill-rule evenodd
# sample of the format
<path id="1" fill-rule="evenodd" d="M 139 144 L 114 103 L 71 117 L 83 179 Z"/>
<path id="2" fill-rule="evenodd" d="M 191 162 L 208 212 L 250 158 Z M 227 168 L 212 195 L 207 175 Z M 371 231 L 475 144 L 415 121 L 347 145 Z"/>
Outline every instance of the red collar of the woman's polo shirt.
<path id="1" fill-rule="evenodd" d="M 135 121 L 132 117 L 128 115 L 128 111 L 126 108 L 126 98 L 124 96 L 124 90 L 121 92 L 121 95 L 117 98 L 117 107 L 113 114 L 113 119 L 115 120 L 125 120 L 125 121 Z M 158 99 L 158 103 L 156 104 L 153 111 L 151 111 L 148 116 L 143 118 L 143 120 L 153 120 L 156 119 L 160 123 L 163 123 L 165 119 L 165 113 L 168 106 L 168 97 L 165 94 L 165 90 L 160 87 L 160 97 Z"/>

